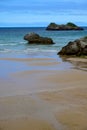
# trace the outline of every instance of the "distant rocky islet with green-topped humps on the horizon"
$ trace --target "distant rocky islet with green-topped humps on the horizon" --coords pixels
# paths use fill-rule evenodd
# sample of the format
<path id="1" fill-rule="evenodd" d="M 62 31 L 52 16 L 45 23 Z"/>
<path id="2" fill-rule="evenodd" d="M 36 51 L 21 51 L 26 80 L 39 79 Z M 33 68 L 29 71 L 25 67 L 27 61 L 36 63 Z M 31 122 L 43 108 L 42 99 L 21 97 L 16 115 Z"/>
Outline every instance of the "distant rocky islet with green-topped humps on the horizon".
<path id="1" fill-rule="evenodd" d="M 53 31 L 62 31 L 62 30 L 83 30 L 82 27 L 78 27 L 77 25 L 75 25 L 74 23 L 67 23 L 67 24 L 61 24 L 58 25 L 56 23 L 50 23 L 46 30 L 53 30 Z"/>

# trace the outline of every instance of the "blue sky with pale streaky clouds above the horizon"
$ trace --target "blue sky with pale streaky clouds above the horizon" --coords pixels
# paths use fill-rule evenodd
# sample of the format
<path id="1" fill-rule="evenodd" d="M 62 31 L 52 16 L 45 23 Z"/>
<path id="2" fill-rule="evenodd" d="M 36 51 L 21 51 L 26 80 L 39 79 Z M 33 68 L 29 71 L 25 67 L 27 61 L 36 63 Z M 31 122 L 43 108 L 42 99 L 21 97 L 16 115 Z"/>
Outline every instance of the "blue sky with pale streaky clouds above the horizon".
<path id="1" fill-rule="evenodd" d="M 0 0 L 0 27 L 87 25 L 87 0 Z"/>

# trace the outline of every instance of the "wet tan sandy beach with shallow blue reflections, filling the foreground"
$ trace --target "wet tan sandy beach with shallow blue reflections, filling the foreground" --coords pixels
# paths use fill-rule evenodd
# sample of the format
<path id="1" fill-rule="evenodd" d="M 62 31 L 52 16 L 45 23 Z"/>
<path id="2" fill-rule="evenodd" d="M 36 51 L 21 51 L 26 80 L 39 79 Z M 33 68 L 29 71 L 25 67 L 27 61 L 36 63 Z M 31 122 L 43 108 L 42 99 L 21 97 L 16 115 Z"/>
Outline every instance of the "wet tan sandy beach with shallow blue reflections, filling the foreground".
<path id="1" fill-rule="evenodd" d="M 0 130 L 87 129 L 87 59 L 68 61 L 0 58 Z"/>

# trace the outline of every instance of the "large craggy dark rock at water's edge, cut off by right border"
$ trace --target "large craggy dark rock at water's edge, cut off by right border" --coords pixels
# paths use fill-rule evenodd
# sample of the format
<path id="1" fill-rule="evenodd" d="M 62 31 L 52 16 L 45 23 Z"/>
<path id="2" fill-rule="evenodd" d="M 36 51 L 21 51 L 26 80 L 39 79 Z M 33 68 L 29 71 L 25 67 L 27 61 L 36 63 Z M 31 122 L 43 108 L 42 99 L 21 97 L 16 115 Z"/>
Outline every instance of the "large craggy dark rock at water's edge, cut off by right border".
<path id="1" fill-rule="evenodd" d="M 87 37 L 69 42 L 62 48 L 59 55 L 87 55 Z"/>

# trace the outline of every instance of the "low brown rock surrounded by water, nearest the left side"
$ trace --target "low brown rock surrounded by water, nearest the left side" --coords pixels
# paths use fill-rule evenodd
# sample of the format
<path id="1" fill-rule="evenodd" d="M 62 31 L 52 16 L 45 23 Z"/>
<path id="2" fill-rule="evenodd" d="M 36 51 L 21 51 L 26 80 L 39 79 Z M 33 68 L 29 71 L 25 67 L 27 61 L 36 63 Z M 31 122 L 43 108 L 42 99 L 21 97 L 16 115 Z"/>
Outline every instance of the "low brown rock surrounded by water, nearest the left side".
<path id="1" fill-rule="evenodd" d="M 30 44 L 54 44 L 51 38 L 41 37 L 36 33 L 26 34 L 24 40 L 27 40 Z"/>

